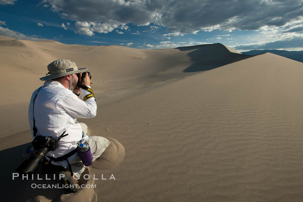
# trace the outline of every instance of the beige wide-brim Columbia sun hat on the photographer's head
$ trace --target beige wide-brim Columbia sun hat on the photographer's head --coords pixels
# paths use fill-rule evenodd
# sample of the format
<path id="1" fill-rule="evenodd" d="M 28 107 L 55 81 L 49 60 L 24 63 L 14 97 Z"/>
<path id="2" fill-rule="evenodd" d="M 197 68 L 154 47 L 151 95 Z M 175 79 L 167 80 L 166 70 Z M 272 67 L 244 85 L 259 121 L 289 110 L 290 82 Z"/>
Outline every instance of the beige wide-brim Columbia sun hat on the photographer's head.
<path id="1" fill-rule="evenodd" d="M 65 75 L 77 74 L 79 72 L 87 70 L 88 68 L 78 69 L 76 63 L 71 60 L 55 60 L 47 65 L 47 69 L 47 76 L 40 78 L 40 80 L 48 81 Z"/>

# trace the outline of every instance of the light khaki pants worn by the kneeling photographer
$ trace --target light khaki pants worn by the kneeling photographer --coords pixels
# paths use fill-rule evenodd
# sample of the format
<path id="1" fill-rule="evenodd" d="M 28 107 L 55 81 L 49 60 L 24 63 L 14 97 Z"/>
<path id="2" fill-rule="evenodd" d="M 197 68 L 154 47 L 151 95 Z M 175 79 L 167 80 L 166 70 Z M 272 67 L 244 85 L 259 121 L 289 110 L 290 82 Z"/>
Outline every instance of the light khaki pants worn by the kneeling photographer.
<path id="1" fill-rule="evenodd" d="M 101 156 L 101 154 L 105 151 L 106 147 L 108 147 L 109 145 L 109 141 L 105 137 L 100 136 L 89 136 L 87 143 L 91 148 L 94 161 L 96 160 L 96 158 Z M 74 172 L 74 174 L 79 174 L 79 176 L 81 176 L 85 168 L 87 168 L 87 166 L 85 166 L 82 161 L 80 161 L 81 158 L 79 157 L 79 154 L 76 153 L 76 156 L 70 162 L 72 171 Z"/>

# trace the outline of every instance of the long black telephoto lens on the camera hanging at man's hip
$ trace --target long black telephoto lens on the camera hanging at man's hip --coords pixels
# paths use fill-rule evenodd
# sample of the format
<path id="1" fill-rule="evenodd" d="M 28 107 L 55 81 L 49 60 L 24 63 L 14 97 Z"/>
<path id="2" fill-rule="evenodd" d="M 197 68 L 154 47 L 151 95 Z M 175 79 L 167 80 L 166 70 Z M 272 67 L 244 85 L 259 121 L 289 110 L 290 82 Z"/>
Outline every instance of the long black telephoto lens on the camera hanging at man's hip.
<path id="1" fill-rule="evenodd" d="M 15 171 L 20 173 L 20 176 L 22 174 L 35 174 L 47 153 L 48 149 L 46 147 L 37 149 L 28 159 L 22 161 Z"/>

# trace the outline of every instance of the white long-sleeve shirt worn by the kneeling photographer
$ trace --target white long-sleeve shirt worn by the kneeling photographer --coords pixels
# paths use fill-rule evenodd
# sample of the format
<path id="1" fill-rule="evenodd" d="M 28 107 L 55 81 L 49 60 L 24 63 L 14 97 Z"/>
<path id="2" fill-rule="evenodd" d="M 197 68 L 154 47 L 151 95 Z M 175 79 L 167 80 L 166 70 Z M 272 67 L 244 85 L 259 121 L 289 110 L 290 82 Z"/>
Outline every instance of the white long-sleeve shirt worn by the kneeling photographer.
<path id="1" fill-rule="evenodd" d="M 88 88 L 90 87 L 88 86 Z M 39 91 L 39 89 L 41 90 Z M 28 120 L 32 136 L 34 137 L 33 106 L 35 107 L 36 135 L 53 137 L 57 140 L 64 131 L 66 131 L 65 134 L 68 134 L 58 141 L 58 148 L 55 151 L 49 151 L 47 156 L 57 158 L 74 150 L 77 147 L 76 142 L 82 139 L 82 128 L 76 118 L 93 118 L 96 116 L 97 104 L 95 98 L 92 97 L 83 101 L 85 95 L 91 92 L 82 88 L 80 91 L 82 99 L 79 99 L 61 83 L 49 80 L 33 92 L 28 108 Z M 33 100 L 37 92 L 38 95 L 34 104 Z M 74 155 L 68 160 L 72 160 L 73 157 Z M 62 165 L 66 167 L 66 162 Z"/>

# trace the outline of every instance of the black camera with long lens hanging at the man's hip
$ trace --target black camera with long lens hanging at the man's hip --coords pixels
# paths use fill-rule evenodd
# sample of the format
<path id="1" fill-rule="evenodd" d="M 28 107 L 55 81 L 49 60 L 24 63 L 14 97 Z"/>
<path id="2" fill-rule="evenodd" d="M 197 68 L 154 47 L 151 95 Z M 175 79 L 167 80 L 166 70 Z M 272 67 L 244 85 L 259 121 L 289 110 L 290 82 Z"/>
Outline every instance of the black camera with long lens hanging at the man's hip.
<path id="1" fill-rule="evenodd" d="M 36 136 L 32 141 L 35 151 L 15 169 L 20 174 L 35 174 L 49 151 L 55 151 L 58 141 L 52 137 Z"/>

